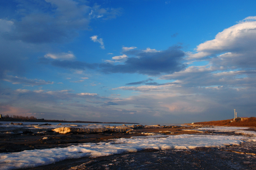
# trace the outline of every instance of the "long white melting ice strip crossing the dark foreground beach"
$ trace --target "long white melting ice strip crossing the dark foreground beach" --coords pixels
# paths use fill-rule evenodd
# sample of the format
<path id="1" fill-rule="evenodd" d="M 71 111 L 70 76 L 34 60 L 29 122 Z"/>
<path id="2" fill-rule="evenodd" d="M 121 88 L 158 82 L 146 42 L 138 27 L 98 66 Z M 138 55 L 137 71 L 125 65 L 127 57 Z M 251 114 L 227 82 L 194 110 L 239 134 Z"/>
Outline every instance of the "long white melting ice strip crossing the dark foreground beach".
<path id="1" fill-rule="evenodd" d="M 233 129 L 236 131 L 237 129 Z M 153 136 L 152 136 L 153 137 Z M 255 138 L 255 137 L 254 137 Z M 239 145 L 248 137 L 242 135 L 170 135 L 161 138 L 120 138 L 112 142 L 85 143 L 66 148 L 29 150 L 0 154 L 0 170 L 30 168 L 71 158 L 99 157 L 144 149 L 192 149 Z M 255 140 L 254 140 L 255 141 Z"/>

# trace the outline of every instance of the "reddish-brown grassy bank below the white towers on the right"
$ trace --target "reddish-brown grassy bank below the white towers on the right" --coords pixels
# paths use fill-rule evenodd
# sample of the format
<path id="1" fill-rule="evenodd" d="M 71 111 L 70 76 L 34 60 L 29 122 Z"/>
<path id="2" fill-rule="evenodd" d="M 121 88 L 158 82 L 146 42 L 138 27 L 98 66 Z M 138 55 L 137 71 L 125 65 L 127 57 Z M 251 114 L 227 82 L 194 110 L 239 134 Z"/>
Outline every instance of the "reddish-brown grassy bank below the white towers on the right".
<path id="1" fill-rule="evenodd" d="M 228 126 L 256 126 L 256 118 L 255 117 L 250 117 L 247 120 L 243 120 L 243 121 L 230 122 L 230 120 L 233 120 L 233 119 L 208 121 L 208 122 L 196 122 L 195 124 L 217 125 L 217 126 L 223 126 L 223 125 L 228 125 Z"/>

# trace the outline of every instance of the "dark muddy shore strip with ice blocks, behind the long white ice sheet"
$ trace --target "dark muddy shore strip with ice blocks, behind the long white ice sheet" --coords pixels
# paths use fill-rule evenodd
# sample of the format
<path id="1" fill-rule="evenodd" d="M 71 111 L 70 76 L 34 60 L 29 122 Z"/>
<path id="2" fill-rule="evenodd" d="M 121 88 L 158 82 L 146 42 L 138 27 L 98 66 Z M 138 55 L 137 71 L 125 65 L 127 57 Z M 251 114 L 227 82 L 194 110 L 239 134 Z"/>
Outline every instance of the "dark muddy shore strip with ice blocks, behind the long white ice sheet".
<path id="1" fill-rule="evenodd" d="M 34 125 L 33 127 L 36 128 L 0 129 L 0 153 L 67 147 L 74 143 L 98 143 L 110 139 L 130 138 L 131 136 L 196 133 L 193 131 L 180 131 L 181 129 L 192 128 L 181 126 L 124 125 L 106 126 L 105 128 L 78 128 L 76 125 L 73 125 L 71 127 L 44 128 L 44 126 L 49 125 Z"/>

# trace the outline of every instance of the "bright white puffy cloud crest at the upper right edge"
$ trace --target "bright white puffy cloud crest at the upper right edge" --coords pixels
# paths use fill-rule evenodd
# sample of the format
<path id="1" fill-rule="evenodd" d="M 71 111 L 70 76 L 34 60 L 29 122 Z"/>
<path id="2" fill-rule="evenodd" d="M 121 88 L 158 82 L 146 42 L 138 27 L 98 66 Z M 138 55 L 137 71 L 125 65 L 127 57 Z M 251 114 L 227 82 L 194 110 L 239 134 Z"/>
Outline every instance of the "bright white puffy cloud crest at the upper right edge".
<path id="1" fill-rule="evenodd" d="M 215 39 L 206 41 L 197 46 L 196 54 L 190 58 L 203 58 L 223 52 L 244 52 L 255 49 L 256 17 L 247 17 L 243 22 L 224 29 L 215 36 Z M 254 50 L 255 51 L 255 50 Z"/>

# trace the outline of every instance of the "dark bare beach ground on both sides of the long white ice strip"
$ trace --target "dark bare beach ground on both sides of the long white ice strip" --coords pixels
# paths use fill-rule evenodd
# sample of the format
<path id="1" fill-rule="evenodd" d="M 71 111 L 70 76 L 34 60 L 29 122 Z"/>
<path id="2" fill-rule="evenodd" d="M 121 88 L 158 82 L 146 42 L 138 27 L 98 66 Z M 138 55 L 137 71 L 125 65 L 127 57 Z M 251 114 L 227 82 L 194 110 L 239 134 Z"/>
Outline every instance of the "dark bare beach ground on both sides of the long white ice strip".
<path id="1" fill-rule="evenodd" d="M 195 129 L 195 126 L 175 128 L 138 128 L 144 133 L 159 133 L 170 131 L 166 135 L 182 134 L 213 134 L 204 131 L 182 131 Z M 255 132 L 251 127 L 247 131 Z M 256 133 L 256 132 L 255 132 Z M 219 135 L 232 135 L 230 132 L 220 132 Z M 0 135 L 0 151 L 20 152 L 33 149 L 64 148 L 81 143 L 109 142 L 113 139 L 131 138 L 132 136 L 147 136 L 130 133 L 100 133 L 100 134 L 56 134 L 54 132 L 37 134 L 2 134 Z M 48 137 L 48 140 L 43 140 Z M 256 142 L 245 142 L 241 145 L 232 145 L 225 148 L 196 147 L 188 150 L 144 149 L 139 152 L 121 153 L 101 157 L 84 157 L 67 159 L 54 164 L 27 168 L 27 170 L 85 170 L 85 169 L 256 169 Z"/>

